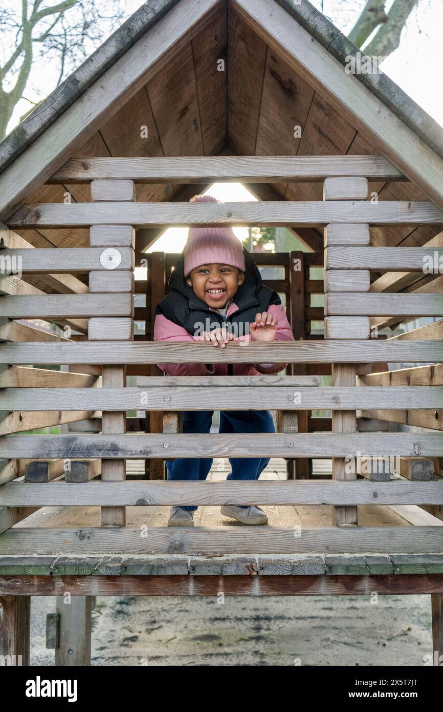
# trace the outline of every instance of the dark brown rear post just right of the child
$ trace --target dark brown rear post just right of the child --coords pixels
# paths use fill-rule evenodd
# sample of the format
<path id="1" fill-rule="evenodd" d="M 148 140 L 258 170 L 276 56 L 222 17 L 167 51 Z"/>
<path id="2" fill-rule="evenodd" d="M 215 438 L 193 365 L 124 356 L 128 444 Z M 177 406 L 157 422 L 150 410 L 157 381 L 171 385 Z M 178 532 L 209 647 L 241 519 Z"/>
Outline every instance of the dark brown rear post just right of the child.
<path id="1" fill-rule="evenodd" d="M 309 295 L 308 295 L 309 299 Z M 306 338 L 306 290 L 304 279 L 304 253 L 292 251 L 289 253 L 289 307 L 291 326 L 294 339 L 299 341 Z M 306 364 L 291 364 L 293 376 L 305 375 Z M 309 411 L 301 410 L 297 413 L 299 433 L 308 431 Z M 295 467 L 292 466 L 295 464 Z M 309 460 L 301 458 L 289 461 L 288 479 L 309 479 Z"/>

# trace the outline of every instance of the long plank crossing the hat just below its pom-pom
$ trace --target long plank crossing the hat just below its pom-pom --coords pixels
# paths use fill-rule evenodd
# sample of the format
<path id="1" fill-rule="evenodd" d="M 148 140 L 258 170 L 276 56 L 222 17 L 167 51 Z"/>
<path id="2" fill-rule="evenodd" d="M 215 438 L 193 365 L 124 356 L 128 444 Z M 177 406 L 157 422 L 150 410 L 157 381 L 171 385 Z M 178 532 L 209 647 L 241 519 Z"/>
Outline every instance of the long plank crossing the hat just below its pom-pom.
<path id="1" fill-rule="evenodd" d="M 38 203 L 25 204 L 9 227 L 90 227 L 91 225 L 255 225 L 316 227 L 328 223 L 439 225 L 443 211 L 431 202 L 257 201 L 243 203 Z M 92 248 L 91 248 L 92 249 Z M 397 248 L 396 248 L 397 249 Z M 345 265 L 343 265 L 345 266 Z"/>

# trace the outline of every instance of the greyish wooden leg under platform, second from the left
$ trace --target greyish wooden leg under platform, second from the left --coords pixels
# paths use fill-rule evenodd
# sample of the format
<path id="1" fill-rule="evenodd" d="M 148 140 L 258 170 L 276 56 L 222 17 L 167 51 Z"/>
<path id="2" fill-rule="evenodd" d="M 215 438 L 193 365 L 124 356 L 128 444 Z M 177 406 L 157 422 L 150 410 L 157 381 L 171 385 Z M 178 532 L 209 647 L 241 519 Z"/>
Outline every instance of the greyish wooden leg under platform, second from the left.
<path id="1" fill-rule="evenodd" d="M 56 666 L 91 664 L 90 596 L 58 596 L 59 640 L 55 649 Z"/>

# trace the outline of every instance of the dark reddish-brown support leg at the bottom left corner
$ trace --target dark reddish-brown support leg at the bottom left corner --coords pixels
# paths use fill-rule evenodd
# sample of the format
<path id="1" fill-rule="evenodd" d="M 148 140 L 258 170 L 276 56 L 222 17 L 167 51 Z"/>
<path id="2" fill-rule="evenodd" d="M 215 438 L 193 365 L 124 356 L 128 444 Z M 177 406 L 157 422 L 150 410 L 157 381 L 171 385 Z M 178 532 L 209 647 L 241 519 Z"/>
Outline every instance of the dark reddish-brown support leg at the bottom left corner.
<path id="1" fill-rule="evenodd" d="M 0 666 L 29 665 L 31 596 L 0 596 Z"/>

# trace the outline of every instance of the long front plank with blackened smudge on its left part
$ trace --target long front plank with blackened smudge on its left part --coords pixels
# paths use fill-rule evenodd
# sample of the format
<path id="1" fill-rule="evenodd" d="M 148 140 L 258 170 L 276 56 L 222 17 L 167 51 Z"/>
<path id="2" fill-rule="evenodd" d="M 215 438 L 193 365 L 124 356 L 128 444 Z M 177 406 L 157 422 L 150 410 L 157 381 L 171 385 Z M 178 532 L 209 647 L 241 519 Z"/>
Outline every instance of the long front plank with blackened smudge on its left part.
<path id="1" fill-rule="evenodd" d="M 443 455 L 443 435 L 428 433 L 124 434 L 9 435 L 0 438 L 0 458 L 101 457 L 170 459 L 176 457 L 348 457 Z"/>

